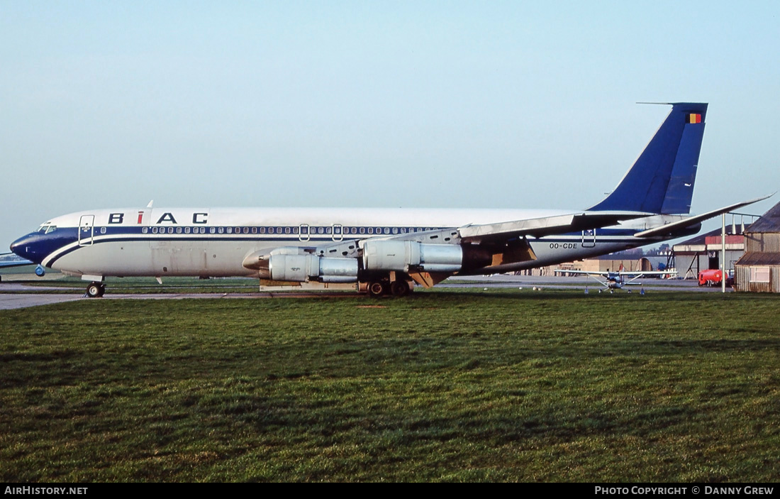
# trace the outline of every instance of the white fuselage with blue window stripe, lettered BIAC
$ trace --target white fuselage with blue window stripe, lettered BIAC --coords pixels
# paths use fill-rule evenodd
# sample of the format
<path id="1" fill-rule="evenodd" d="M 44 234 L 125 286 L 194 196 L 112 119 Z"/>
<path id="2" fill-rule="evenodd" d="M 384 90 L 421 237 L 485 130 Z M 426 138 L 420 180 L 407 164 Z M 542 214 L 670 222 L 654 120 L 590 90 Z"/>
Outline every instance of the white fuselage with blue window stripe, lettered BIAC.
<path id="1" fill-rule="evenodd" d="M 42 264 L 76 276 L 257 276 L 242 262 L 256 251 L 315 247 L 337 241 L 468 224 L 555 216 L 559 210 L 463 209 L 113 209 L 51 219 L 52 233 L 71 233 Z M 652 216 L 585 233 L 529 237 L 537 259 L 484 267 L 498 273 L 553 265 L 650 244 L 633 232 L 680 217 Z"/>

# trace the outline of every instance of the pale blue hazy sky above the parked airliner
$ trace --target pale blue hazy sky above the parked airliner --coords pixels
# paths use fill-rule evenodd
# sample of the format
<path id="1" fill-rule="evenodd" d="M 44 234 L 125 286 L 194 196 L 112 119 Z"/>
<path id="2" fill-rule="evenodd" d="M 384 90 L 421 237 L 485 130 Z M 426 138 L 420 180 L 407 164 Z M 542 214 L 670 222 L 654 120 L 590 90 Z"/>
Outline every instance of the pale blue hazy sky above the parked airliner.
<path id="1" fill-rule="evenodd" d="M 639 101 L 710 103 L 694 212 L 770 194 L 778 14 L 0 0 L 0 252 L 53 216 L 151 199 L 584 209 L 668 113 Z"/>

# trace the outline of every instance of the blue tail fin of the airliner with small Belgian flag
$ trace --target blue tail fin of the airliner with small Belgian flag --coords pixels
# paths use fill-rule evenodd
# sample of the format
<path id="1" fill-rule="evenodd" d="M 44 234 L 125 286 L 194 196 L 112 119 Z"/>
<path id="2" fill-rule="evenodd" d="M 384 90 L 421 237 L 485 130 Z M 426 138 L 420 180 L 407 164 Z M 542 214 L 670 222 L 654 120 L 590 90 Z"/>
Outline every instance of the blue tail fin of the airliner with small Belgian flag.
<path id="1" fill-rule="evenodd" d="M 590 210 L 690 213 L 706 115 L 707 104 L 673 103 L 615 191 Z"/>

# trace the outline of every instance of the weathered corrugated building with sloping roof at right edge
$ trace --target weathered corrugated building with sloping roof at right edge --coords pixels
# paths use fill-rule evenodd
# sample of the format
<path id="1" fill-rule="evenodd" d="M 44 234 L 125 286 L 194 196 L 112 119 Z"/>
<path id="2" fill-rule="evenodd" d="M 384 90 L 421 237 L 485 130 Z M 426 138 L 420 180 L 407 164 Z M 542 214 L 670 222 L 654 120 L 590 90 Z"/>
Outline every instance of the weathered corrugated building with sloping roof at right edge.
<path id="1" fill-rule="evenodd" d="M 734 283 L 738 291 L 780 293 L 780 203 L 745 230 Z"/>

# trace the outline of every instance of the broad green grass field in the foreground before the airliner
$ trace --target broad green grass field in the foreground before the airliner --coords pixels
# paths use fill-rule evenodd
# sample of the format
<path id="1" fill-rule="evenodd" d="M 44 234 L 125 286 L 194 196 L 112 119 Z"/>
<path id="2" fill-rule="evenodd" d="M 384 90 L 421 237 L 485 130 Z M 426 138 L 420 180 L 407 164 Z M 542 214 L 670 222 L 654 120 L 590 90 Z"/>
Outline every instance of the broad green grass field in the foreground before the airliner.
<path id="1" fill-rule="evenodd" d="M 0 479 L 777 482 L 780 299 L 0 311 Z"/>

